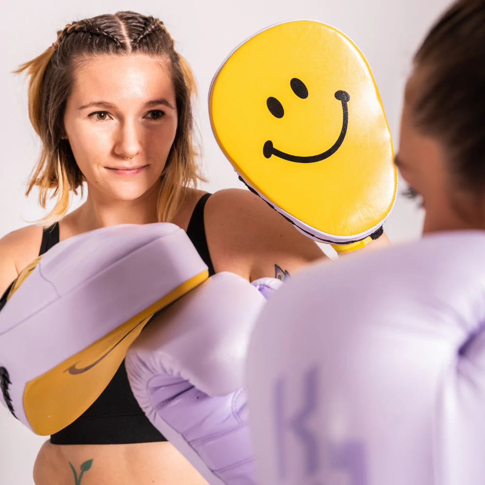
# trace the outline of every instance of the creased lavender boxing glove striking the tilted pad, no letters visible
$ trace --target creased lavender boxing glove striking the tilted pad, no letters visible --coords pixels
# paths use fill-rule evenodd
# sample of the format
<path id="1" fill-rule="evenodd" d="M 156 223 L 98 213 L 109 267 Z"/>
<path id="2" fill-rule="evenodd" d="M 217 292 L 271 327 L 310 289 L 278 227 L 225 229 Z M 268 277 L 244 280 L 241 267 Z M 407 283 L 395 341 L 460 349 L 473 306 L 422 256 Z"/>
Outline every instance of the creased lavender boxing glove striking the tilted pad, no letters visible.
<path id="1" fill-rule="evenodd" d="M 146 416 L 210 484 L 256 484 L 243 371 L 262 294 L 281 283 L 214 275 L 163 310 L 126 357 Z"/>

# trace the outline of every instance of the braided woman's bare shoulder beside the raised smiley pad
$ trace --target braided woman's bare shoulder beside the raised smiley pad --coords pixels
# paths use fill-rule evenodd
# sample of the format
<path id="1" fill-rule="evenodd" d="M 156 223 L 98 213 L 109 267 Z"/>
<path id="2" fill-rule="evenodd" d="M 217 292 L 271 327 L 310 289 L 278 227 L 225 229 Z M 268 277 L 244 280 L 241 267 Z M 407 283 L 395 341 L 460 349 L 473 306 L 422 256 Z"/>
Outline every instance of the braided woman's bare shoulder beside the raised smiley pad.
<path id="1" fill-rule="evenodd" d="M 318 245 L 301 234 L 260 197 L 244 189 L 212 194 L 204 214 L 214 269 L 250 280 L 275 277 L 324 258 Z"/>

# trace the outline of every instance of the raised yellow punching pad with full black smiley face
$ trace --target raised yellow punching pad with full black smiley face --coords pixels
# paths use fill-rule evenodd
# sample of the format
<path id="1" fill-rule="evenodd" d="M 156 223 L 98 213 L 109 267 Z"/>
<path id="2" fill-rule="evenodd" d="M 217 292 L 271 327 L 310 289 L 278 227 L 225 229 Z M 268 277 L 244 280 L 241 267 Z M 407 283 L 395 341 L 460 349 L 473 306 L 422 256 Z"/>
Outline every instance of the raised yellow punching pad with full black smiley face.
<path id="1" fill-rule="evenodd" d="M 396 197 L 391 136 L 342 32 L 296 20 L 250 37 L 215 74 L 209 111 L 242 181 L 301 232 L 334 244 L 379 232 Z"/>

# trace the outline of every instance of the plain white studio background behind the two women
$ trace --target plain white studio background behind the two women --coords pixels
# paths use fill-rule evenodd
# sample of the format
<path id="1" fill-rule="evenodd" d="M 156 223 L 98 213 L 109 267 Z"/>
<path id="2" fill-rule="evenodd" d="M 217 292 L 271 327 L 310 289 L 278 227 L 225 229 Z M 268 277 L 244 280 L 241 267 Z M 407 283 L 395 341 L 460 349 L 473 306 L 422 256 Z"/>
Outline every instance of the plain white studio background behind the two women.
<path id="1" fill-rule="evenodd" d="M 345 32 L 364 52 L 382 97 L 395 147 L 398 146 L 402 93 L 413 52 L 448 0 L 83 0 L 10 1 L 3 10 L 0 68 L 0 236 L 43 215 L 36 194 L 24 197 L 39 143 L 27 113 L 27 83 L 12 74 L 43 52 L 56 32 L 73 20 L 119 10 L 158 16 L 191 64 L 199 86 L 197 126 L 203 169 L 210 192 L 241 187 L 210 131 L 207 93 L 226 55 L 245 38 L 284 20 L 320 20 Z M 402 192 L 404 184 L 400 186 Z M 74 201 L 74 206 L 79 201 Z M 419 237 L 422 214 L 415 202 L 398 197 L 385 226 L 394 243 Z M 0 406 L 0 485 L 31 485 L 35 455 L 44 441 Z"/>

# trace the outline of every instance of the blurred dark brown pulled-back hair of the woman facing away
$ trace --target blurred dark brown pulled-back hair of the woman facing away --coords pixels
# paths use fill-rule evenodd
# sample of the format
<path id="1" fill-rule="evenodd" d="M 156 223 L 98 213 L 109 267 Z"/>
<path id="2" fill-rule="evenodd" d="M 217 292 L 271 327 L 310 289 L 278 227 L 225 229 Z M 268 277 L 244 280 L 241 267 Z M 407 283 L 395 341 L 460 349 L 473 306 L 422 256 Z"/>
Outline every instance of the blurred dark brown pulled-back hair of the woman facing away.
<path id="1" fill-rule="evenodd" d="M 446 150 L 460 186 L 485 190 L 485 0 L 459 0 L 415 56 L 413 119 Z"/>

